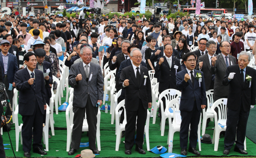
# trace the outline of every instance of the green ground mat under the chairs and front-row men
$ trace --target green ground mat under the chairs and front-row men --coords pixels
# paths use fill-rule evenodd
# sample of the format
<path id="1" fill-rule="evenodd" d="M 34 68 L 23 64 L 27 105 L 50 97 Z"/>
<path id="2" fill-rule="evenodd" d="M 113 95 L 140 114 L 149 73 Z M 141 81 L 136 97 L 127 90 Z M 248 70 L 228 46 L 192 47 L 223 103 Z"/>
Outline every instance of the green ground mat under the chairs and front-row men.
<path id="1" fill-rule="evenodd" d="M 62 98 L 62 103 L 65 102 L 66 98 L 66 91 L 64 91 L 64 98 Z M 109 103 L 109 102 L 107 102 Z M 256 109 L 256 108 L 255 108 Z M 254 112 L 255 112 L 254 109 Z M 255 114 L 255 113 L 254 113 Z M 19 123 L 22 123 L 21 115 L 19 117 Z M 255 118 L 255 117 L 254 117 Z M 66 128 L 66 116 L 65 111 L 59 111 L 58 115 L 54 113 L 54 128 Z M 254 124 L 254 120 L 248 120 L 249 122 L 252 121 L 251 124 Z M 156 124 L 152 124 L 153 118 L 150 118 L 150 124 L 149 124 L 149 142 L 150 142 L 150 149 L 157 145 L 163 145 L 168 149 L 167 145 L 167 137 L 168 137 L 168 121 L 166 121 L 166 127 L 165 127 L 165 135 L 161 136 L 160 131 L 160 118 L 157 118 Z M 249 125 L 248 125 L 249 126 Z M 206 133 L 213 135 L 213 128 L 214 124 L 213 122 L 209 123 L 209 126 L 207 127 Z M 23 151 L 22 151 L 22 145 L 19 141 L 19 148 L 18 152 L 16 152 L 16 143 L 15 143 L 15 126 L 12 125 L 12 130 L 9 132 L 10 137 L 13 143 L 14 153 L 16 157 L 23 157 Z M 248 132 L 247 132 L 248 133 Z M 252 129 L 252 135 L 255 137 L 255 130 Z M 51 131 L 49 132 L 51 135 Z M 123 143 L 124 138 L 121 138 L 121 144 L 119 145 L 119 151 L 116 151 L 116 135 L 115 135 L 115 124 L 111 124 L 111 115 L 106 114 L 104 111 L 101 111 L 101 121 L 100 121 L 100 141 L 101 141 L 101 151 L 99 155 L 96 155 L 96 157 L 159 157 L 160 154 L 154 154 L 151 151 L 146 151 L 146 154 L 139 154 L 135 151 L 135 146 L 133 147 L 132 154 L 126 155 L 125 152 L 125 145 Z M 8 133 L 3 133 L 3 139 L 4 144 L 10 144 Z M 251 138 L 250 138 L 251 139 Z M 86 132 L 82 134 L 81 142 L 88 142 L 88 137 L 86 136 Z M 246 139 L 247 143 L 247 156 L 256 156 L 256 144 L 250 141 L 248 138 Z M 69 156 L 67 155 L 66 151 L 67 146 L 67 131 L 66 130 L 55 130 L 55 136 L 52 136 L 52 138 L 49 139 L 49 151 L 47 152 L 47 155 L 40 156 L 39 154 L 35 154 L 31 151 L 31 157 L 67 157 L 67 158 L 74 158 L 76 154 L 80 154 L 81 150 L 83 149 L 89 149 L 89 147 L 80 148 L 75 155 Z M 202 151 L 201 155 L 204 157 L 207 157 L 208 155 L 211 156 L 224 156 L 223 150 L 224 150 L 224 136 L 220 137 L 219 141 L 219 148 L 218 151 L 214 151 L 214 144 L 204 144 L 201 143 Z M 11 148 L 11 145 L 6 145 L 6 148 Z M 43 145 L 43 149 L 45 149 L 45 145 Z M 147 149 L 146 145 L 146 139 L 145 143 L 143 145 L 143 149 Z M 198 146 L 197 146 L 198 149 Z M 234 146 L 230 150 L 229 156 L 245 156 L 242 154 L 239 154 L 237 152 L 234 152 Z M 168 152 L 168 151 L 167 151 Z M 13 151 L 12 149 L 6 149 L 5 150 L 7 157 L 13 157 Z M 173 153 L 180 154 L 180 132 L 175 132 L 174 134 L 174 140 L 173 140 Z M 188 152 L 188 156 L 194 156 L 193 154 Z"/>

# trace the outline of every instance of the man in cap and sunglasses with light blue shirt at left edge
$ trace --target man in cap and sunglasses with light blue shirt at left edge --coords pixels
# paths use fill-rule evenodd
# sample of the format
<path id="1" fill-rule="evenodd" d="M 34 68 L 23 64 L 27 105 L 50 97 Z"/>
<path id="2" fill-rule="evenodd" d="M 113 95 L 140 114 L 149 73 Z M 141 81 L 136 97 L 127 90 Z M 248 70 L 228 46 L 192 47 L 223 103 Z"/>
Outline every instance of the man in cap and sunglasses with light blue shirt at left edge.
<path id="1" fill-rule="evenodd" d="M 3 39 L 0 43 L 1 45 L 1 56 L 0 56 L 0 66 L 1 66 L 1 74 L 3 77 L 3 83 L 5 85 L 5 89 L 7 91 L 7 94 L 10 98 L 11 106 L 13 105 L 13 89 L 9 90 L 9 85 L 12 87 L 15 87 L 15 81 L 14 81 L 14 74 L 18 71 L 18 62 L 16 56 L 9 53 L 9 46 L 10 43 L 8 40 Z M 5 115 L 7 116 L 7 120 L 10 119 L 10 116 L 12 115 L 12 112 L 9 109 L 9 106 L 7 106 Z M 9 125 L 9 124 L 8 124 Z"/>

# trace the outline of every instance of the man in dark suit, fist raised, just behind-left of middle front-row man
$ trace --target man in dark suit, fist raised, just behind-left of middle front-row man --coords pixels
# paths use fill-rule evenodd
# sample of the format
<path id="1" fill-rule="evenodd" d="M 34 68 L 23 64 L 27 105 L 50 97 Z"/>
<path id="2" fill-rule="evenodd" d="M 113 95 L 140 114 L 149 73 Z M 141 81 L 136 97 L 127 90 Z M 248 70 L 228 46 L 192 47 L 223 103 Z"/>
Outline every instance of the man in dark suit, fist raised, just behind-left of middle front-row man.
<path id="1" fill-rule="evenodd" d="M 121 62 L 124 60 L 130 59 L 130 57 L 128 56 L 128 51 L 127 51 L 127 48 L 130 45 L 131 45 L 131 43 L 129 40 L 122 41 L 122 43 L 121 43 L 122 52 L 120 54 L 118 54 L 117 56 L 113 56 L 112 61 L 110 61 L 109 69 L 115 70 L 117 68 L 116 74 L 118 73 Z M 116 83 L 119 81 L 117 75 L 116 75 L 115 81 L 116 81 Z M 117 92 L 120 90 L 120 87 L 118 87 L 118 84 L 116 84 L 116 89 L 117 89 Z"/>

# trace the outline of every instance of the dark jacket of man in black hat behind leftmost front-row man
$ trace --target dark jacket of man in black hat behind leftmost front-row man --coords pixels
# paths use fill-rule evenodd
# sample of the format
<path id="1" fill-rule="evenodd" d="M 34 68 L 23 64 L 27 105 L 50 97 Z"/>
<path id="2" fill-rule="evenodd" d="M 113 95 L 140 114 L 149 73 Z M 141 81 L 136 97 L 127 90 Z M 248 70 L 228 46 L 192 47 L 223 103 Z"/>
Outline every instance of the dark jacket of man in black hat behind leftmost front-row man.
<path id="1" fill-rule="evenodd" d="M 44 68 L 43 71 L 41 70 L 43 73 L 46 73 L 47 69 L 50 70 L 49 75 L 48 75 L 49 80 L 48 81 L 45 80 L 45 91 L 47 91 L 47 94 L 48 94 L 47 97 L 51 98 L 52 93 L 51 93 L 51 86 L 49 84 L 53 84 L 52 66 L 49 62 L 44 61 L 43 62 L 43 68 Z M 36 69 L 38 69 L 37 64 L 36 64 Z"/>

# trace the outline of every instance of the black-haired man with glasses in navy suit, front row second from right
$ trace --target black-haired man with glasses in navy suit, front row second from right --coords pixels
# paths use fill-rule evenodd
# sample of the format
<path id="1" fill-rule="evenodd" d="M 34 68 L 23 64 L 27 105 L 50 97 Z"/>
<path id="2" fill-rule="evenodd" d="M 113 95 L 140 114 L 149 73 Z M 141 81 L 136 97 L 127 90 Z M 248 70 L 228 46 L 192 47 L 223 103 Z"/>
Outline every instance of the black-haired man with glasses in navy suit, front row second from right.
<path id="1" fill-rule="evenodd" d="M 189 137 L 189 152 L 200 155 L 196 146 L 201 109 L 206 107 L 207 102 L 204 76 L 201 71 L 194 69 L 196 67 L 196 55 L 193 52 L 186 53 L 183 56 L 183 61 L 187 68 L 176 75 L 177 88 L 181 90 L 180 154 L 187 155 Z"/>

